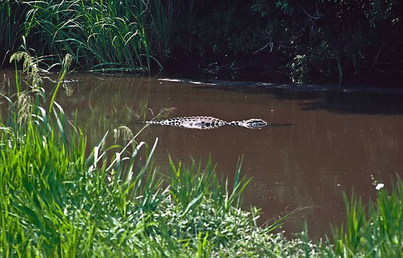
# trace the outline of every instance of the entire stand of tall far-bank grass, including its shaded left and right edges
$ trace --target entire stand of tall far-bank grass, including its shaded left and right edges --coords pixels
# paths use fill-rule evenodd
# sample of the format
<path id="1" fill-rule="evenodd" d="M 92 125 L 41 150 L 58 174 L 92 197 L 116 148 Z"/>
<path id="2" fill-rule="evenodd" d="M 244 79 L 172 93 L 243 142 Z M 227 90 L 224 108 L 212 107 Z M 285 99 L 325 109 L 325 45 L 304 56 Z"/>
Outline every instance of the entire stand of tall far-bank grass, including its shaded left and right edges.
<path id="1" fill-rule="evenodd" d="M 3 0 L 0 57 L 22 45 L 48 63 L 70 54 L 77 68 L 90 71 L 158 71 L 172 50 L 174 6 L 157 0 Z"/>

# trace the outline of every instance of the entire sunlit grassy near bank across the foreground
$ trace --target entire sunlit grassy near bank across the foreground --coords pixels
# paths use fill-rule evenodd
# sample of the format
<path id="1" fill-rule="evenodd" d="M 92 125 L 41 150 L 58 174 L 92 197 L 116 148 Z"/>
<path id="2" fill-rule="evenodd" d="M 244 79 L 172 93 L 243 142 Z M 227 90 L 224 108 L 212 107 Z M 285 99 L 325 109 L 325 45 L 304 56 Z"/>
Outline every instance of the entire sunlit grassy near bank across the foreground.
<path id="1" fill-rule="evenodd" d="M 62 72 L 68 60 L 62 62 Z M 151 145 L 132 137 L 86 154 L 86 137 L 64 116 L 40 77 L 2 96 L 0 255 L 2 257 L 401 257 L 403 182 L 382 189 L 366 208 L 353 194 L 346 222 L 330 239 L 307 232 L 287 239 L 260 226 L 259 210 L 241 208 L 249 180 L 239 160 L 233 184 L 211 160 L 153 165 Z M 34 85 L 34 86 L 32 86 Z M 88 149 L 88 148 L 87 148 Z M 169 175 L 169 176 L 167 176 Z"/>

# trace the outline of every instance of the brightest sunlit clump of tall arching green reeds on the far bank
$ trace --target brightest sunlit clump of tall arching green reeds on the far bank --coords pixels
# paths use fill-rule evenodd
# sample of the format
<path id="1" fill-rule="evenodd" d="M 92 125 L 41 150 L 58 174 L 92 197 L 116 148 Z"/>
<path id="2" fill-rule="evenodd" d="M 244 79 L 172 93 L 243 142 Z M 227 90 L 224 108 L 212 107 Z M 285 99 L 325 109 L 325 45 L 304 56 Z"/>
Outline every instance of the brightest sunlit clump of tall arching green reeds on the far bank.
<path id="1" fill-rule="evenodd" d="M 29 4 L 29 19 L 48 53 L 70 53 L 94 71 L 150 70 L 143 1 Z"/>

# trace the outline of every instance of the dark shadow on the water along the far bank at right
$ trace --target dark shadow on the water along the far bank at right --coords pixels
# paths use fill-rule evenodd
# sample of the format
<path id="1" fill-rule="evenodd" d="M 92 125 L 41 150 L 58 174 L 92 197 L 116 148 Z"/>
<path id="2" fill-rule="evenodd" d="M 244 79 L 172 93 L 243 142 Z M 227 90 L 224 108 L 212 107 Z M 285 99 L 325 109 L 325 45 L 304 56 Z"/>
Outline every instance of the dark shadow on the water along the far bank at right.
<path id="1" fill-rule="evenodd" d="M 184 79 L 183 82 L 199 84 L 195 87 L 199 90 L 216 88 L 221 91 L 245 94 L 270 94 L 278 100 L 309 101 L 300 104 L 304 111 L 323 110 L 340 114 L 370 115 L 403 114 L 402 89 L 345 88 L 221 80 L 192 81 Z"/>

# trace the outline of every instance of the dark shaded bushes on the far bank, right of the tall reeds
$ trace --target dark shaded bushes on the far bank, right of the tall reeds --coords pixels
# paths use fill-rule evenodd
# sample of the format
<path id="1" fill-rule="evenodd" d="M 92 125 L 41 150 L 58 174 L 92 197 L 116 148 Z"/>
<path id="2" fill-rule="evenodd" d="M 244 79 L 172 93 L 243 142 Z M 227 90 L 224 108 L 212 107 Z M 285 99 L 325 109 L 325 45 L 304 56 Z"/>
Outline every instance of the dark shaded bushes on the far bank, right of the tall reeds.
<path id="1" fill-rule="evenodd" d="M 281 70 L 295 77 L 294 58 L 304 55 L 307 78 L 359 78 L 401 67 L 403 18 L 394 0 L 208 1 L 193 9 L 198 22 L 182 45 L 192 42 L 190 56 L 218 62 L 221 70 Z"/>

